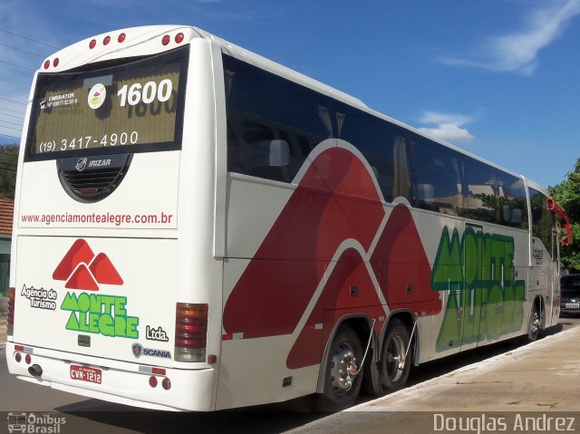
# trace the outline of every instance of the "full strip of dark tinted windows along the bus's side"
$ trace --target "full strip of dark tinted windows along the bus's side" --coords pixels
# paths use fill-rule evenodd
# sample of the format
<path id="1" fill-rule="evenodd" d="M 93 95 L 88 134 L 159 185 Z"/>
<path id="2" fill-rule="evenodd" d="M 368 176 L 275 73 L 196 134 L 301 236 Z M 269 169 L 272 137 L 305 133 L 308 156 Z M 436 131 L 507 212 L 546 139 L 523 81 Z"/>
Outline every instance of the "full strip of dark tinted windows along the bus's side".
<path id="1" fill-rule="evenodd" d="M 292 182 L 316 145 L 342 139 L 367 159 L 387 202 L 527 228 L 519 178 L 227 54 L 223 63 L 229 171 Z"/>

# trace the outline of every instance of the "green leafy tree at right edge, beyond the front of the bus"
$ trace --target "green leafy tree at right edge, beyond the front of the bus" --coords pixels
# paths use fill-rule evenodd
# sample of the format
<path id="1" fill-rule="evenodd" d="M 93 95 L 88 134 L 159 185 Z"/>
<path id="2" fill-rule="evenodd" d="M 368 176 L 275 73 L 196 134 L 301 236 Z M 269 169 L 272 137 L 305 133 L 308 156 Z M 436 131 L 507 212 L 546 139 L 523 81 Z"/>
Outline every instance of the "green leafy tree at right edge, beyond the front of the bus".
<path id="1" fill-rule="evenodd" d="M 572 243 L 562 247 L 562 265 L 570 271 L 580 273 L 580 159 L 567 179 L 555 187 L 548 188 L 550 195 L 564 208 L 570 218 Z"/>

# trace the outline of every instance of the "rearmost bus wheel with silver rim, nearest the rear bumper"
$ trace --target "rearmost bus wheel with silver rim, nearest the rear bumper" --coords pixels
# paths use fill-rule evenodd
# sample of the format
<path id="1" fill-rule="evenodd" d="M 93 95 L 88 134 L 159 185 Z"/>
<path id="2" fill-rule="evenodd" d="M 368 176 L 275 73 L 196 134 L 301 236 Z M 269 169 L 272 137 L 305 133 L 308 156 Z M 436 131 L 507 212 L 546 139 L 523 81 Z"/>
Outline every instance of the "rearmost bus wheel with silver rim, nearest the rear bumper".
<path id="1" fill-rule="evenodd" d="M 316 397 L 316 410 L 339 411 L 353 405 L 361 390 L 361 362 L 359 337 L 351 327 L 341 326 L 324 362 L 324 392 Z"/>

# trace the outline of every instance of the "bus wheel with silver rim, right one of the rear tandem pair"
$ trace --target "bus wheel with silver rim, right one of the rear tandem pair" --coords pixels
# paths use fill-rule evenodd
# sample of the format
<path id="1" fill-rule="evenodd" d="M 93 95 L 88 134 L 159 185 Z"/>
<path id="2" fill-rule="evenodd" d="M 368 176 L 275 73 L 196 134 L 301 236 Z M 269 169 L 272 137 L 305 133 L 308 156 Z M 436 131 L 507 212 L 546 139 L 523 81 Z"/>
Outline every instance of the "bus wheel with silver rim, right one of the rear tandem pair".
<path id="1" fill-rule="evenodd" d="M 400 320 L 393 319 L 382 345 L 379 381 L 382 393 L 399 391 L 407 383 L 411 370 L 411 351 L 405 357 L 411 337 Z"/>

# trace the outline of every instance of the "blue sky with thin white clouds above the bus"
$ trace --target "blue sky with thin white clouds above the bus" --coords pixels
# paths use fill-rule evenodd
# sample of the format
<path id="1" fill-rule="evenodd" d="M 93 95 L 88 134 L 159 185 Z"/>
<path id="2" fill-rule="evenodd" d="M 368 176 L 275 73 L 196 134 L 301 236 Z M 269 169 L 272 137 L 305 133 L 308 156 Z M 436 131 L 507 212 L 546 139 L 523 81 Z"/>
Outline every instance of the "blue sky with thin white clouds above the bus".
<path id="1" fill-rule="evenodd" d="M 84 38 L 191 24 L 555 186 L 580 158 L 580 0 L 0 0 L 0 143 Z"/>

